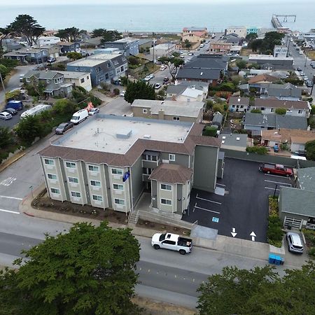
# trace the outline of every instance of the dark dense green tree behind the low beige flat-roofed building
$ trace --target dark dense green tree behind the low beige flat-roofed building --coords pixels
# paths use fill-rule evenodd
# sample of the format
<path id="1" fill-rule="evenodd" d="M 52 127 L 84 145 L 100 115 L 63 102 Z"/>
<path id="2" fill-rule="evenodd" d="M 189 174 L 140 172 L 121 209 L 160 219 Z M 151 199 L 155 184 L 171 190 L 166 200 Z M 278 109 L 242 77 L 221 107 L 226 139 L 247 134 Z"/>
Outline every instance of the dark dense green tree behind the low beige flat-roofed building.
<path id="1" fill-rule="evenodd" d="M 135 99 L 155 99 L 153 85 L 141 80 L 128 82 L 125 92 L 125 101 L 132 104 Z"/>

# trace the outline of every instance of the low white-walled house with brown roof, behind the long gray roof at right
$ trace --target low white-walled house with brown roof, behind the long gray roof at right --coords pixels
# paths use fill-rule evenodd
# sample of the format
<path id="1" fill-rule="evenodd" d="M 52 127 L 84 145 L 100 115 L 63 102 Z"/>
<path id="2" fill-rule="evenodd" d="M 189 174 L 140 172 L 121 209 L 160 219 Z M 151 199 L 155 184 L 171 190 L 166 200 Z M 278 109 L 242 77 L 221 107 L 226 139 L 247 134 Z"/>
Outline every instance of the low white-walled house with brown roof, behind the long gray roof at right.
<path id="1" fill-rule="evenodd" d="M 287 101 L 286 99 L 255 99 L 250 110 L 260 109 L 263 114 L 276 115 L 276 109 L 286 109 L 286 116 L 307 117 L 311 113 L 311 105 L 307 101 Z"/>

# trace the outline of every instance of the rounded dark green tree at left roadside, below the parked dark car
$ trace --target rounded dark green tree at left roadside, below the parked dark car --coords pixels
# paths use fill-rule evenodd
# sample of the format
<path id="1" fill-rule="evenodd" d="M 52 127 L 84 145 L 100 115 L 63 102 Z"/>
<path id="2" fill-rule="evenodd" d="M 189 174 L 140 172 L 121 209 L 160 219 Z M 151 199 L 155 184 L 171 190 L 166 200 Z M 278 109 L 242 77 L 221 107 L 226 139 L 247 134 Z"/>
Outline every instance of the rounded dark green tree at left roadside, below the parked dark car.
<path id="1" fill-rule="evenodd" d="M 36 137 L 42 137 L 43 125 L 41 124 L 39 116 L 27 115 L 22 118 L 18 126 L 15 127 L 15 132 L 25 144 L 30 145 Z"/>

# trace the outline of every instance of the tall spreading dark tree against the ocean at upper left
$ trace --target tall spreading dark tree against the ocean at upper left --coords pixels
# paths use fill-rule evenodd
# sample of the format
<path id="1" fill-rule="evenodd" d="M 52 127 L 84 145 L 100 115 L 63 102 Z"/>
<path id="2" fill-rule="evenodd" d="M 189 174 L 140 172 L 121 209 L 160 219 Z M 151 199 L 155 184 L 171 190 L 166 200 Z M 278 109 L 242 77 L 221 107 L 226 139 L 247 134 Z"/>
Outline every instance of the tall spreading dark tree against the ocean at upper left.
<path id="1" fill-rule="evenodd" d="M 11 34 L 25 37 L 31 46 L 37 43 L 37 38 L 43 34 L 45 28 L 41 27 L 30 15 L 20 14 L 8 26 L 8 30 Z"/>

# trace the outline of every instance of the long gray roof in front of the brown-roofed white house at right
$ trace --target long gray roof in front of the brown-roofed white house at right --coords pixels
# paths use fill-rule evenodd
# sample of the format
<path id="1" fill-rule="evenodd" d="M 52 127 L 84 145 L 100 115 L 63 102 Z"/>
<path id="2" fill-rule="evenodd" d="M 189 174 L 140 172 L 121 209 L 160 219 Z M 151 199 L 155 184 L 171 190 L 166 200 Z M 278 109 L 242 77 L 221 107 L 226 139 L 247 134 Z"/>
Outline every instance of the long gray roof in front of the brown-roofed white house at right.
<path id="1" fill-rule="evenodd" d="M 246 112 L 244 125 L 307 130 L 307 118 Z"/>

